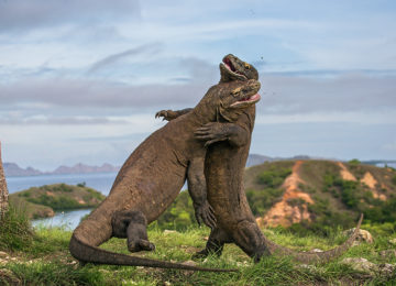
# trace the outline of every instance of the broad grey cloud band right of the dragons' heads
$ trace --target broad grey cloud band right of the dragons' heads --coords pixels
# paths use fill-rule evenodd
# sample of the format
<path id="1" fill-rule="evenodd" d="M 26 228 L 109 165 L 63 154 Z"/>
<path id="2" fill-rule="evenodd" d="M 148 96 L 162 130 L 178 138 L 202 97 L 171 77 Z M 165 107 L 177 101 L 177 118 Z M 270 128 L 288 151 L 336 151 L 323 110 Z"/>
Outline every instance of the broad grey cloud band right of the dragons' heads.
<path id="1" fill-rule="evenodd" d="M 381 111 L 396 109 L 396 76 L 330 78 L 261 76 L 262 112 Z"/>

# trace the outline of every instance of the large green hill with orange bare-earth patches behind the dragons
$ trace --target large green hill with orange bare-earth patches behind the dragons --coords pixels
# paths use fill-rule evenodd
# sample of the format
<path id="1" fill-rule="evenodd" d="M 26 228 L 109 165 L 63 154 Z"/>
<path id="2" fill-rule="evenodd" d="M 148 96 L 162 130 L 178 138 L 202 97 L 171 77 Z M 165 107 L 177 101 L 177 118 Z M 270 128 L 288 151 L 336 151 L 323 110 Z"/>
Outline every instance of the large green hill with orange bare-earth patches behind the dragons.
<path id="1" fill-rule="evenodd" d="M 244 186 L 261 227 L 326 232 L 365 222 L 396 221 L 396 170 L 359 161 L 323 160 L 266 162 L 246 168 Z M 158 219 L 162 228 L 194 224 L 191 200 L 183 191 Z M 396 226 L 395 226 L 396 227 Z"/>

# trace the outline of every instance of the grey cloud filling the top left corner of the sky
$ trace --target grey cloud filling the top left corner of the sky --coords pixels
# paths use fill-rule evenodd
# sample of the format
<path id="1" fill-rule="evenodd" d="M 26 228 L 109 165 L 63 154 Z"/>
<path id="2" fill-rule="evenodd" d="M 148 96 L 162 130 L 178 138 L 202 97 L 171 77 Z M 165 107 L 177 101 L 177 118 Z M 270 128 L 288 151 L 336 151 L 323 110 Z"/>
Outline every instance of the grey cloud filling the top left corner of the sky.
<path id="1" fill-rule="evenodd" d="M 1 0 L 0 32 L 30 31 L 43 25 L 140 18 L 138 0 Z"/>

